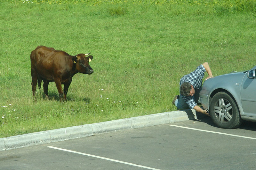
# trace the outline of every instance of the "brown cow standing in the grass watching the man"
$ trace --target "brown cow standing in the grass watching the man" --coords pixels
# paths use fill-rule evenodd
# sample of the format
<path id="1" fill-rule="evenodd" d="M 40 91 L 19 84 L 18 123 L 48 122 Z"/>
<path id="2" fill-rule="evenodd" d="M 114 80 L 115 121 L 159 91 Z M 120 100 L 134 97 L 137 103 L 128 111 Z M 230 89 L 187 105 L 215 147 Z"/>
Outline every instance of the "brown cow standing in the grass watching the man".
<path id="1" fill-rule="evenodd" d="M 92 74 L 93 70 L 89 65 L 92 55 L 78 54 L 69 55 L 64 51 L 58 51 L 54 48 L 38 46 L 30 54 L 31 60 L 31 76 L 32 76 L 32 92 L 33 97 L 36 92 L 36 83 L 41 88 L 41 82 L 44 81 L 44 94 L 47 99 L 49 82 L 55 81 L 60 101 L 67 100 L 68 87 L 72 81 L 72 77 L 76 73 Z M 86 57 L 86 55 L 89 55 Z M 61 87 L 64 84 L 64 93 Z M 63 96 L 64 94 L 64 96 Z"/>

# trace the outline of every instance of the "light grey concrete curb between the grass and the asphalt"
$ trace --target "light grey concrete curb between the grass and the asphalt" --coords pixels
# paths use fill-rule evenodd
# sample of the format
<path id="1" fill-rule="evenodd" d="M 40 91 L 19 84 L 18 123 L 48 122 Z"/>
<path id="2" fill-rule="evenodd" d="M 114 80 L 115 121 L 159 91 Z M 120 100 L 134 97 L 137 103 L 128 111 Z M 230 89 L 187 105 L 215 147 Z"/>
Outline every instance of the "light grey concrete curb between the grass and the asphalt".
<path id="1" fill-rule="evenodd" d="M 193 119 L 197 119 L 196 111 L 188 109 L 4 137 L 0 138 L 0 151 Z"/>

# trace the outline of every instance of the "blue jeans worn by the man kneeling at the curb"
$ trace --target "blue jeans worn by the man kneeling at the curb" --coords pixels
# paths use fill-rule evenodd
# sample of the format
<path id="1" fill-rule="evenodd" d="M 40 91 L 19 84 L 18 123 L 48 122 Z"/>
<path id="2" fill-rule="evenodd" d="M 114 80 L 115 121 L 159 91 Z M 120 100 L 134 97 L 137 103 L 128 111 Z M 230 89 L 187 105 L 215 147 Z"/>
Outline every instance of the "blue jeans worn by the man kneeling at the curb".
<path id="1" fill-rule="evenodd" d="M 202 90 L 202 86 L 199 89 L 195 89 L 195 94 L 193 95 L 193 99 L 197 104 L 200 104 L 200 97 L 199 97 L 199 92 Z M 185 102 L 185 100 L 181 97 L 180 99 L 175 100 L 174 102 L 175 106 L 177 107 L 178 110 L 184 110 L 184 109 L 189 109 L 188 104 Z"/>

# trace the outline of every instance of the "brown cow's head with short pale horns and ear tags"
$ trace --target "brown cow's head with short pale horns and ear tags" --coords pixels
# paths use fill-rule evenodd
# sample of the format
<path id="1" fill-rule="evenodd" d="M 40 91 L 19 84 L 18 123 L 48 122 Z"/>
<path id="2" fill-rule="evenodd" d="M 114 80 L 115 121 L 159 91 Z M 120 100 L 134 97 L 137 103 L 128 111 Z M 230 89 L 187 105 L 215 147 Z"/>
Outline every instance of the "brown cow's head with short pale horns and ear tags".
<path id="1" fill-rule="evenodd" d="M 92 61 L 93 56 L 88 54 L 77 54 L 73 58 L 74 63 L 76 63 L 76 70 L 78 70 L 79 73 L 83 74 L 92 74 L 93 69 L 89 65 L 89 62 Z M 86 55 L 89 55 L 86 57 Z"/>

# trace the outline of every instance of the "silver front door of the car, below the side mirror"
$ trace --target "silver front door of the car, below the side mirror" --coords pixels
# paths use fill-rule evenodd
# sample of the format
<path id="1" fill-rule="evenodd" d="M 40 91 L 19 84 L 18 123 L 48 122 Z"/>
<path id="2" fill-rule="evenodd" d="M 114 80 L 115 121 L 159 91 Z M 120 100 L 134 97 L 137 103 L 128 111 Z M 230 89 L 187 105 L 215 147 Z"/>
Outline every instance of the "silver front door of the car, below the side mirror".
<path id="1" fill-rule="evenodd" d="M 241 102 L 244 116 L 256 117 L 256 78 L 248 78 L 247 73 L 241 86 Z"/>

